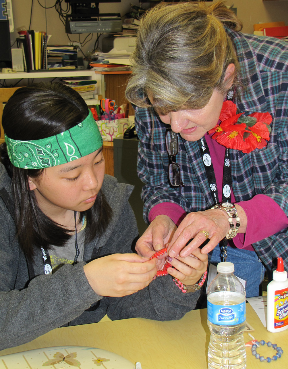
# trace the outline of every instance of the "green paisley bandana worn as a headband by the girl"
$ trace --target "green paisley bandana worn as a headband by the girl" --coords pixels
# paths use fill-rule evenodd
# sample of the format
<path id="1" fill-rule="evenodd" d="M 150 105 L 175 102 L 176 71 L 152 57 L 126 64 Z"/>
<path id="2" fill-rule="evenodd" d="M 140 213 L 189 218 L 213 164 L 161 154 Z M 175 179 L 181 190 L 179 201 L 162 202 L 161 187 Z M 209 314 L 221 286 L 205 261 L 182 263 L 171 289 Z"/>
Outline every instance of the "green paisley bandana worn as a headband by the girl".
<path id="1" fill-rule="evenodd" d="M 69 163 L 91 154 L 103 145 L 91 111 L 83 122 L 58 135 L 31 141 L 15 140 L 5 135 L 5 142 L 11 163 L 24 169 Z"/>

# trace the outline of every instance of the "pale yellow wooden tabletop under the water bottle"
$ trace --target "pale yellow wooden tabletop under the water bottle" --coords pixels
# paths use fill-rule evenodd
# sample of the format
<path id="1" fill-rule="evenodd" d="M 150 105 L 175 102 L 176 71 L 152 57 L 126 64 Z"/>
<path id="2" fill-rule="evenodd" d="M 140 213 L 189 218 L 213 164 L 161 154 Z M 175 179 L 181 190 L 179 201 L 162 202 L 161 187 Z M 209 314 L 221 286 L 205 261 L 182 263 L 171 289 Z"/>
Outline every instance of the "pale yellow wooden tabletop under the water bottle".
<path id="1" fill-rule="evenodd" d="M 246 348 L 247 369 L 287 368 L 288 331 L 268 332 L 249 303 L 246 313 L 247 323 L 254 328 L 250 331 L 254 338 L 271 341 L 284 350 L 280 359 L 267 363 L 255 359 L 250 348 Z M 139 361 L 142 369 L 204 369 L 207 368 L 209 338 L 207 310 L 201 309 L 190 311 L 178 321 L 133 318 L 57 328 L 28 344 L 0 351 L 0 355 L 48 346 L 79 345 L 102 348 L 131 362 Z M 244 341 L 250 340 L 244 332 Z M 272 357 L 275 351 L 264 345 L 257 352 L 266 358 Z"/>

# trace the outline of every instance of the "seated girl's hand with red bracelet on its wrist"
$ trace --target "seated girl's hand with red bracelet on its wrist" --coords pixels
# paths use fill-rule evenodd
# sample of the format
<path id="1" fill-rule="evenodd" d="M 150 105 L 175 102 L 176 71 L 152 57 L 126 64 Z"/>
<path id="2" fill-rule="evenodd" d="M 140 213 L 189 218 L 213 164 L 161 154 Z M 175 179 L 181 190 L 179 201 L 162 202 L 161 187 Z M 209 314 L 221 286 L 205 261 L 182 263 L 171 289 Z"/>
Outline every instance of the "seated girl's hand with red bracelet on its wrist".
<path id="1" fill-rule="evenodd" d="M 177 255 L 176 258 L 172 258 L 172 261 L 169 261 L 170 259 L 166 258 L 166 261 L 175 269 L 167 268 L 167 272 L 187 286 L 194 286 L 207 270 L 208 255 L 201 254 L 198 248 L 185 258 Z"/>

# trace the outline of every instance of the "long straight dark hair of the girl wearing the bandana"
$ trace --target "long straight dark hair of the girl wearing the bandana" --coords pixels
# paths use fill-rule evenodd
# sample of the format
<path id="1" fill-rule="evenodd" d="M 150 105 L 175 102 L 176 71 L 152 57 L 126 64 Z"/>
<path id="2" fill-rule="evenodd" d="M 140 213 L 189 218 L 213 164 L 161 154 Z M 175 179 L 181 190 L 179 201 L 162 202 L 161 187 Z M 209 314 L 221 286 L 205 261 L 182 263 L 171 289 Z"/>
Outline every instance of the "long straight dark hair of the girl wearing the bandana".
<path id="1" fill-rule="evenodd" d="M 50 137 L 81 123 L 89 109 L 79 93 L 62 83 L 33 83 L 16 90 L 3 110 L 2 125 L 9 138 L 35 140 Z M 7 154 L 6 143 L 0 146 L 0 161 L 12 179 L 12 195 L 19 243 L 33 259 L 34 248 L 63 246 L 71 237 L 69 231 L 47 217 L 37 204 L 34 191 L 29 190 L 28 177 L 39 177 L 44 169 L 14 167 Z M 86 217 L 85 242 L 102 234 L 111 219 L 112 210 L 104 194 L 98 193 Z"/>

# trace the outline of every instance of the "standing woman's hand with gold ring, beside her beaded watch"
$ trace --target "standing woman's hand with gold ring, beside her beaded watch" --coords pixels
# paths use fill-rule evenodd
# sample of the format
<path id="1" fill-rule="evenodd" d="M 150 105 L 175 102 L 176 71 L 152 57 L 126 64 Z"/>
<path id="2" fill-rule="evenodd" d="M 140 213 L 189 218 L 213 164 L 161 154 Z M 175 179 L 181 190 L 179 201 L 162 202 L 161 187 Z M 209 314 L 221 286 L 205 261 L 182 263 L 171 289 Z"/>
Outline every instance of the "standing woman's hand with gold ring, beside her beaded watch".
<path id="1" fill-rule="evenodd" d="M 237 205 L 236 207 L 241 219 L 239 232 L 245 233 L 247 225 L 246 214 L 241 206 Z M 168 247 L 168 255 L 171 257 L 178 254 L 182 257 L 190 255 L 206 241 L 205 233 L 202 231 L 208 232 L 210 241 L 202 248 L 201 252 L 208 254 L 226 236 L 229 230 L 228 215 L 223 210 L 208 209 L 189 213 L 174 233 Z M 191 239 L 192 241 L 187 245 L 187 242 Z"/>

